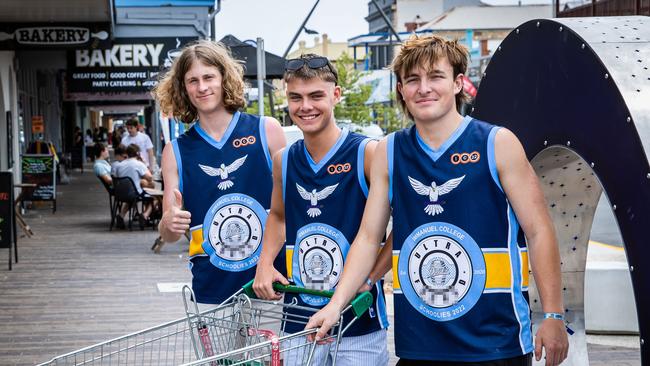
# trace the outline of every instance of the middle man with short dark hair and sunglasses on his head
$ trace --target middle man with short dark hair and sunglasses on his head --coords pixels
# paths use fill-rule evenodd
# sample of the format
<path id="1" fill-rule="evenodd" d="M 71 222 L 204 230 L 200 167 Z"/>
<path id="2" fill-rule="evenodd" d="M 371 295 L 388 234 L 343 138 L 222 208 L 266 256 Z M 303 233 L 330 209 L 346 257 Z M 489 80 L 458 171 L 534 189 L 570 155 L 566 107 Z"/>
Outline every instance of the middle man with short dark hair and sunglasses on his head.
<path id="1" fill-rule="evenodd" d="M 271 211 L 253 285 L 258 296 L 265 299 L 279 298 L 273 291 L 273 282 L 288 283 L 273 266 L 282 252 L 288 259 L 287 273 L 297 285 L 335 289 L 350 243 L 359 229 L 377 142 L 336 125 L 334 106 L 341 98 L 337 77 L 336 69 L 325 57 L 309 54 L 287 61 L 284 81 L 289 115 L 303 132 L 304 140 L 296 141 L 273 158 Z M 390 244 L 380 258 L 364 283 L 357 286 L 357 290 L 371 291 L 375 301 L 343 335 L 337 365 L 388 364 L 388 318 L 381 279 L 390 268 Z M 286 294 L 285 303 L 292 301 L 318 309 L 328 299 Z M 311 314 L 301 313 L 307 317 Z M 346 316 L 345 321 L 351 318 Z M 287 323 L 285 330 L 293 333 L 302 327 Z M 319 364 L 331 364 L 333 356 L 333 347 L 318 347 L 314 357 Z M 288 352 L 284 360 L 285 365 L 296 365 L 302 359 L 296 352 Z"/>

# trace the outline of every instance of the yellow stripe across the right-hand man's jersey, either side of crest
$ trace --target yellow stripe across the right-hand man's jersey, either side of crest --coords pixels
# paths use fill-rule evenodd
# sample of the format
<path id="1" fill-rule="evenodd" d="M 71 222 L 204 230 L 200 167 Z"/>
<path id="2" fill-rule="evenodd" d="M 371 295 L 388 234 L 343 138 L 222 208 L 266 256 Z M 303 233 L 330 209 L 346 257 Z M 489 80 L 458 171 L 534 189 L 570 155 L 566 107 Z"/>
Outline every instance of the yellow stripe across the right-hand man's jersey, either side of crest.
<path id="1" fill-rule="evenodd" d="M 484 252 L 483 258 L 485 258 L 486 269 L 485 289 L 510 288 L 512 286 L 512 269 L 508 253 Z M 396 252 L 393 254 L 393 289 L 396 290 L 401 289 L 397 275 L 398 260 L 399 252 Z M 521 251 L 521 278 L 521 286 L 528 287 L 528 251 Z"/>

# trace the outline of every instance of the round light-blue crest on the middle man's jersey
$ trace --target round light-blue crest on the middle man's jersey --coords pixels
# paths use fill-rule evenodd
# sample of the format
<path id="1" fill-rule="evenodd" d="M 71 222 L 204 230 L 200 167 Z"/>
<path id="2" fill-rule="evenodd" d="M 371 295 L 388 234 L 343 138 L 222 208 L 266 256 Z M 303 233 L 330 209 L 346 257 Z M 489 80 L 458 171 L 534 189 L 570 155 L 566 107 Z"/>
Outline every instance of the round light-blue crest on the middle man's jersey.
<path id="1" fill-rule="evenodd" d="M 293 251 L 293 281 L 305 288 L 333 291 L 343 273 L 350 244 L 338 229 L 313 223 L 298 230 Z M 311 306 L 323 306 L 328 298 L 300 295 Z"/>

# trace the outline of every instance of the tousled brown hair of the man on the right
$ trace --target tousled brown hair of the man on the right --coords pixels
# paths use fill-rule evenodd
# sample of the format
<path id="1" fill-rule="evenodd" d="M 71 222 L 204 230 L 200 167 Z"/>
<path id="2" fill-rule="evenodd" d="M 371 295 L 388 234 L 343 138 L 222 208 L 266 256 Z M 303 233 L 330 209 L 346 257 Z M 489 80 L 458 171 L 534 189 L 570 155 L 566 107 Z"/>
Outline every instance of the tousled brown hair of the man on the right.
<path id="1" fill-rule="evenodd" d="M 469 62 L 469 52 L 467 48 L 458 40 L 449 41 L 440 36 L 418 36 L 412 35 L 400 48 L 399 53 L 393 59 L 390 68 L 395 73 L 397 83 L 395 83 L 395 95 L 397 102 L 406 116 L 413 120 L 413 115 L 406 108 L 406 102 L 402 94 L 397 89 L 397 85 L 402 83 L 402 76 L 418 66 L 433 67 L 435 63 L 446 58 L 453 69 L 454 79 L 459 74 L 467 71 Z M 428 71 L 428 70 L 427 70 Z M 463 103 L 469 98 L 463 89 L 456 94 L 456 110 L 460 111 Z"/>

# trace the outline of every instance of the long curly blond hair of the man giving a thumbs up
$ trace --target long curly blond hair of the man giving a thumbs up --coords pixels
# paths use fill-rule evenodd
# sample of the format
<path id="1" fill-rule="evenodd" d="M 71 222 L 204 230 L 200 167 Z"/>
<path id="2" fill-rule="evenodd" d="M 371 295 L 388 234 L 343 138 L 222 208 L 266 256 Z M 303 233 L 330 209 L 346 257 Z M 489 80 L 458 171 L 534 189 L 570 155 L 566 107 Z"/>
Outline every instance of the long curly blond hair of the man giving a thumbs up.
<path id="1" fill-rule="evenodd" d="M 191 123 L 198 119 L 196 107 L 190 102 L 185 90 L 185 74 L 195 61 L 216 67 L 221 73 L 223 105 L 228 112 L 234 113 L 246 105 L 242 65 L 233 59 L 230 51 L 223 44 L 202 40 L 183 48 L 171 69 L 161 77 L 158 85 L 151 91 L 164 114 L 184 123 Z"/>

